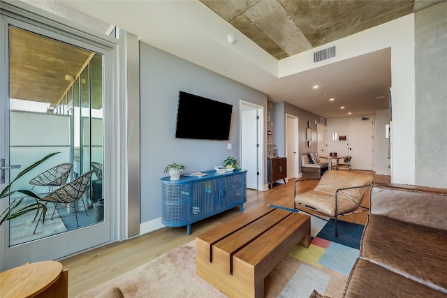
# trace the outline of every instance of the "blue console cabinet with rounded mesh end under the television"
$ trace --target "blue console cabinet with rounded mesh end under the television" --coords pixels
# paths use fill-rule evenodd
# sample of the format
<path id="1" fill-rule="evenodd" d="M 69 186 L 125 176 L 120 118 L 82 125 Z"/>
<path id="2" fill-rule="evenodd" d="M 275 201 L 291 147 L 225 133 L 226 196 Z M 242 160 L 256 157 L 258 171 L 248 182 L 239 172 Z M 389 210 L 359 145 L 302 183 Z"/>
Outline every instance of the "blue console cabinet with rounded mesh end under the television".
<path id="1" fill-rule="evenodd" d="M 191 223 L 219 214 L 240 205 L 242 212 L 247 202 L 247 170 L 224 174 L 203 172 L 204 177 L 182 176 L 179 180 L 161 178 L 162 217 L 168 227 L 188 226 Z"/>

